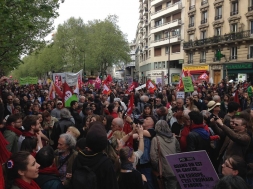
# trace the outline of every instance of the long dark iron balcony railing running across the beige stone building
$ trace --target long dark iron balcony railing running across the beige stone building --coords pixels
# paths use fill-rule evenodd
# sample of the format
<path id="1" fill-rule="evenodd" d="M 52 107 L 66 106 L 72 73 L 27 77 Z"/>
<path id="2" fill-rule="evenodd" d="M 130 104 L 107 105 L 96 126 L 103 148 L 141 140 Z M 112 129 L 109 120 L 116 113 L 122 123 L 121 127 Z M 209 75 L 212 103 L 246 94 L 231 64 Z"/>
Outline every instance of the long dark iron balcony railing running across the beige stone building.
<path id="1" fill-rule="evenodd" d="M 199 46 L 204 46 L 204 45 L 217 44 L 217 43 L 232 42 L 235 40 L 250 38 L 250 36 L 251 36 L 250 30 L 241 31 L 241 32 L 237 32 L 237 33 L 229 33 L 229 34 L 225 34 L 225 35 L 214 36 L 214 37 L 210 37 L 210 38 L 185 42 L 184 49 L 192 48 L 192 47 L 199 47 Z"/>

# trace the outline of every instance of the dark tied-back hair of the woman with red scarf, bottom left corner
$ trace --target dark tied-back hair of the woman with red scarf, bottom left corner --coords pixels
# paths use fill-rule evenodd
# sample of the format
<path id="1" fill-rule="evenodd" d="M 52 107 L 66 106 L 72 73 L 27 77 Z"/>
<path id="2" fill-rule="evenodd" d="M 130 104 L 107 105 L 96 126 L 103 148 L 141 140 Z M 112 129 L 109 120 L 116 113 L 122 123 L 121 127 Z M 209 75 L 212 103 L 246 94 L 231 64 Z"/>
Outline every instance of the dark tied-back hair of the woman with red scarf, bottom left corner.
<path id="1" fill-rule="evenodd" d="M 6 188 L 11 188 L 13 180 L 19 178 L 20 175 L 18 171 L 25 171 L 28 165 L 28 156 L 29 152 L 19 151 L 11 155 L 10 160 L 5 164 L 7 179 L 6 179 Z"/>

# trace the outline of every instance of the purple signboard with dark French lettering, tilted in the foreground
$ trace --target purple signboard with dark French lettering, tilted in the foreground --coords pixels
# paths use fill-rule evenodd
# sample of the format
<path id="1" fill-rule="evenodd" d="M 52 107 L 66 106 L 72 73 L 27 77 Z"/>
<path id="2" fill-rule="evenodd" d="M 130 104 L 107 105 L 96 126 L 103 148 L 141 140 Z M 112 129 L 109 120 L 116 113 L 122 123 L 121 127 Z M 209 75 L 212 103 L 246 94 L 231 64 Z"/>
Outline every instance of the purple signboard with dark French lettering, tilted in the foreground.
<path id="1" fill-rule="evenodd" d="M 219 180 L 206 151 L 166 156 L 182 189 L 212 189 Z"/>

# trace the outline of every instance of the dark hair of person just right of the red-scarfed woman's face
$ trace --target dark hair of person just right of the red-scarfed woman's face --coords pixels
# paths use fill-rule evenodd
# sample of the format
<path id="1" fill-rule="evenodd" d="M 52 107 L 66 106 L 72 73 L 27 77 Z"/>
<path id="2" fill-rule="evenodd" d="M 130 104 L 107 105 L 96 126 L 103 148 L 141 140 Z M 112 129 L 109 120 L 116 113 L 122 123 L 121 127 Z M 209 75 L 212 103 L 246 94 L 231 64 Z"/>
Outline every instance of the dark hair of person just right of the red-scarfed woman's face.
<path id="1" fill-rule="evenodd" d="M 40 169 L 50 167 L 54 162 L 54 150 L 51 146 L 44 146 L 36 154 L 36 161 L 40 164 Z"/>

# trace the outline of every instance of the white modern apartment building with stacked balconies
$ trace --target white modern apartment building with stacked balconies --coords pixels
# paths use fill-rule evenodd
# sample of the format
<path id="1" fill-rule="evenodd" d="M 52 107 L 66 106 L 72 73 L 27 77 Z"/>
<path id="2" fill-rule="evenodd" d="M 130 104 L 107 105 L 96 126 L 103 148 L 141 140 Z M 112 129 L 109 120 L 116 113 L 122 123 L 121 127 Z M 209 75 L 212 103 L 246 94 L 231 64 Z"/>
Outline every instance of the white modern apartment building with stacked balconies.
<path id="1" fill-rule="evenodd" d="M 180 0 L 139 0 L 139 24 L 136 31 L 138 80 L 162 83 L 169 78 L 177 84 L 184 61 L 184 2 Z M 169 73 L 168 73 L 169 70 Z M 164 75 L 163 75 L 164 74 Z M 169 75 L 169 76 L 168 76 Z M 168 79 L 164 80 L 168 83 Z"/>

